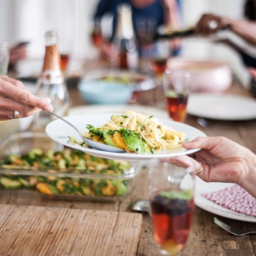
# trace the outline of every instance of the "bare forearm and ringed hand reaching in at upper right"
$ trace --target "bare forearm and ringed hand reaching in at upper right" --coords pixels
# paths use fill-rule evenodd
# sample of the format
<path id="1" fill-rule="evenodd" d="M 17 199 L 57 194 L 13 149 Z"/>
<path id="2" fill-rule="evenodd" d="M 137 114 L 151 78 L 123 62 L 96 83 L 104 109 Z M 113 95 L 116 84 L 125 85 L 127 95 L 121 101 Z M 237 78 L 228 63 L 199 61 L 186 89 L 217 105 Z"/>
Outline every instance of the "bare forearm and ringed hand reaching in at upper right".
<path id="1" fill-rule="evenodd" d="M 223 27 L 229 27 L 231 31 L 248 43 L 256 45 L 256 22 L 205 14 L 197 22 L 196 32 L 198 35 L 208 36 L 218 32 Z"/>

